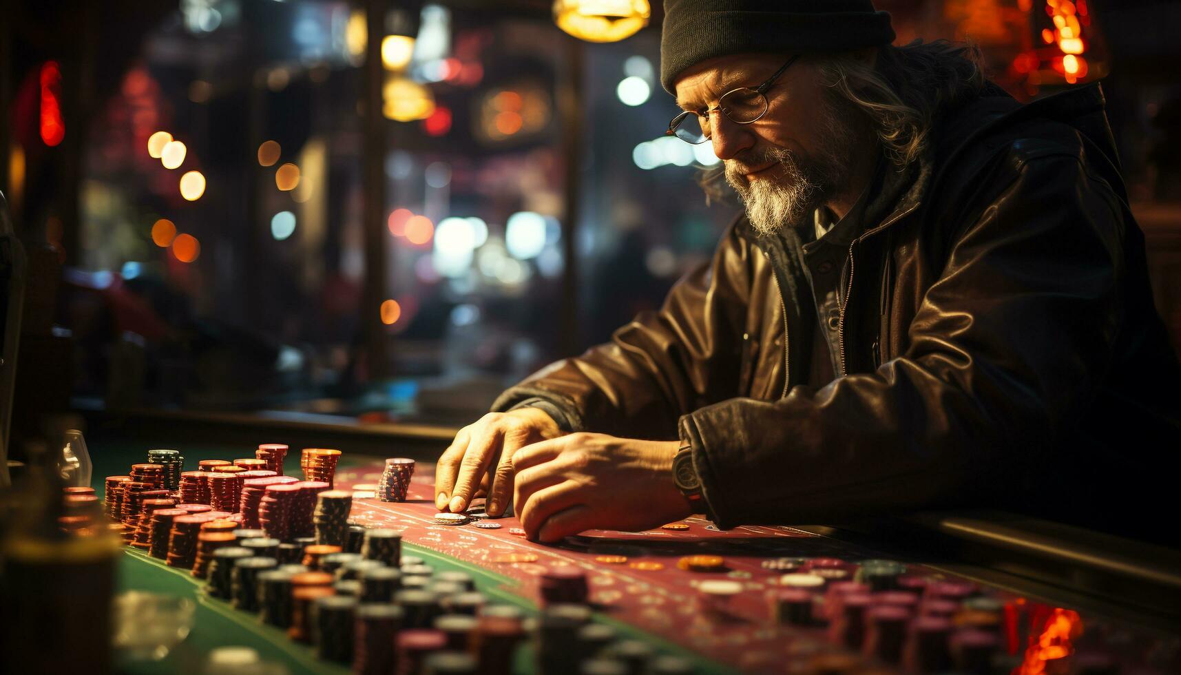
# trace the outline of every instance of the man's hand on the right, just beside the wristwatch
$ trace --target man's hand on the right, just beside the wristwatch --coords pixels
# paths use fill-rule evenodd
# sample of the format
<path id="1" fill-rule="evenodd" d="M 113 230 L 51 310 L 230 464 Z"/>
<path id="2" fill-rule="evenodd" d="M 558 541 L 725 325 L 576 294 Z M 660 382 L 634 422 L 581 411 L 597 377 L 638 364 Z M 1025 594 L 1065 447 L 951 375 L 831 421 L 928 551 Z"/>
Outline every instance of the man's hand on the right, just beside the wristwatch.
<path id="1" fill-rule="evenodd" d="M 692 514 L 672 480 L 677 441 L 569 434 L 513 455 L 514 504 L 534 541 L 583 530 L 639 531 Z"/>

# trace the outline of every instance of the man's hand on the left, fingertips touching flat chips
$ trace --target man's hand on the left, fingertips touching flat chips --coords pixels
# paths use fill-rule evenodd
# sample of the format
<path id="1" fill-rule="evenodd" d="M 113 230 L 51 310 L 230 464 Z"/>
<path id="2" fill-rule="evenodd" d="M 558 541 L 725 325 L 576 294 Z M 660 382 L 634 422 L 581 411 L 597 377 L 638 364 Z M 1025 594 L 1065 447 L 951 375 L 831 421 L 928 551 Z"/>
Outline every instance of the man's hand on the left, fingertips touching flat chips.
<path id="1" fill-rule="evenodd" d="M 492 461 L 489 515 L 501 515 L 513 496 L 513 454 L 537 441 L 565 435 L 557 422 L 539 408 L 489 413 L 455 435 L 439 457 L 435 474 L 435 506 L 459 513 L 468 507 Z"/>

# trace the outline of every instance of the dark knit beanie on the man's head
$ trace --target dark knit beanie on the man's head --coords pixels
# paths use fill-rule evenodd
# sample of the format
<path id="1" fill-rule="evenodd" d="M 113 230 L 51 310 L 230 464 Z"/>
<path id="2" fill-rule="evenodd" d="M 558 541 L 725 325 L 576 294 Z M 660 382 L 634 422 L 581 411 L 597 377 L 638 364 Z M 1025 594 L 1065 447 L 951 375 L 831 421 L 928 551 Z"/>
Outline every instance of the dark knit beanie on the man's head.
<path id="1" fill-rule="evenodd" d="M 685 69 L 742 53 L 833 52 L 894 41 L 872 0 L 665 0 L 660 84 Z"/>

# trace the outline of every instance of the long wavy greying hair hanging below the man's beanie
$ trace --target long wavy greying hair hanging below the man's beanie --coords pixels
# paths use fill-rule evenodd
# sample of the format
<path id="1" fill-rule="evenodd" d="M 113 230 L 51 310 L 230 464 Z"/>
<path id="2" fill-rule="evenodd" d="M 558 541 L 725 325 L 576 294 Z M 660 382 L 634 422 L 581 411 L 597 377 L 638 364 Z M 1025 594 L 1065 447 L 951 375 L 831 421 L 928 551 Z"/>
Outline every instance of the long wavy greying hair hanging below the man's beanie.
<path id="1" fill-rule="evenodd" d="M 809 60 L 835 100 L 864 116 L 898 169 L 924 152 L 941 108 L 978 95 L 985 85 L 980 50 L 948 40 L 881 47 L 872 65 L 847 52 L 811 54 Z M 698 183 L 706 201 L 729 194 L 720 163 L 702 169 Z"/>

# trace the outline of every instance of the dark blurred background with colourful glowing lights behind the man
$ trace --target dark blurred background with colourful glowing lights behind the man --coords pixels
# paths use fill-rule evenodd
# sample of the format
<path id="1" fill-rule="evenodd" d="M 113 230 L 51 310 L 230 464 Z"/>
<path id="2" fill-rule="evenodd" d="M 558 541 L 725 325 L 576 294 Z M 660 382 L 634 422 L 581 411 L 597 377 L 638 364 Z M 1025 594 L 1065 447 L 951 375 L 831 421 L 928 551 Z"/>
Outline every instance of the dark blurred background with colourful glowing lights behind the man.
<path id="1" fill-rule="evenodd" d="M 654 5 L 0 5 L 14 437 L 65 409 L 457 427 L 658 307 L 738 209 L 663 137 Z M 1018 98 L 1103 80 L 1181 343 L 1181 5 L 876 5 Z"/>

